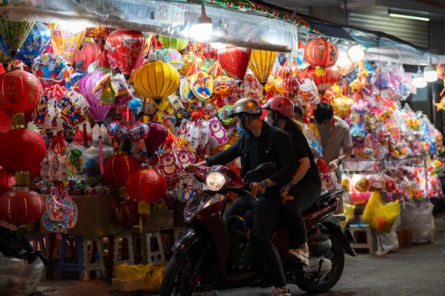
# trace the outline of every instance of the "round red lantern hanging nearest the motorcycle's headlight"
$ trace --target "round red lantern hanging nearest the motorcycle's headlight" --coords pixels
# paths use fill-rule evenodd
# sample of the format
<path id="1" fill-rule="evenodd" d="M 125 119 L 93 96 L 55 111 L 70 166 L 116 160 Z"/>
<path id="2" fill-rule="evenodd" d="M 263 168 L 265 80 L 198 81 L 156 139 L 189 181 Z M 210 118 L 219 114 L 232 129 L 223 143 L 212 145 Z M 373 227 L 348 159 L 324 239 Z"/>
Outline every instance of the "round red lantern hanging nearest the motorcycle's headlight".
<path id="1" fill-rule="evenodd" d="M 138 202 L 156 202 L 166 194 L 166 179 L 152 168 L 141 168 L 127 180 L 127 191 L 131 199 Z"/>

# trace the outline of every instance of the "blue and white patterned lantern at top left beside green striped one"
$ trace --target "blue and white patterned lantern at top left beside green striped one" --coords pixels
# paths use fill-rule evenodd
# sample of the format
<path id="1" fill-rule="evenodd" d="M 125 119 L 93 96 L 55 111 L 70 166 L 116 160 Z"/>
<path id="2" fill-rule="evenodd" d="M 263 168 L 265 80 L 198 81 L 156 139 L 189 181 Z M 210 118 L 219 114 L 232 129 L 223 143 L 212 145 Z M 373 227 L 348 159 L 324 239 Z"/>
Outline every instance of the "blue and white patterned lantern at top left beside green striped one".
<path id="1" fill-rule="evenodd" d="M 44 23 L 36 22 L 33 29 L 26 37 L 23 45 L 18 50 L 16 58 L 23 60 L 25 63 L 32 62 L 36 57 L 41 55 L 51 40 L 51 31 Z"/>

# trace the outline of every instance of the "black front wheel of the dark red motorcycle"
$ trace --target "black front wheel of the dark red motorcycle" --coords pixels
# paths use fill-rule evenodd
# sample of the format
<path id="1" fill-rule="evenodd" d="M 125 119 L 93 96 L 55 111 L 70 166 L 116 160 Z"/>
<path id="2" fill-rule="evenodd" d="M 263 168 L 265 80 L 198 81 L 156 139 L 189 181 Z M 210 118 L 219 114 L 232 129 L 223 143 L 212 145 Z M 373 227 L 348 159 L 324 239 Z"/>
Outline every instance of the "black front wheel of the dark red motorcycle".
<path id="1" fill-rule="evenodd" d="M 163 274 L 159 296 L 191 296 L 198 285 L 203 252 L 190 248 L 186 253 L 175 253 Z"/>

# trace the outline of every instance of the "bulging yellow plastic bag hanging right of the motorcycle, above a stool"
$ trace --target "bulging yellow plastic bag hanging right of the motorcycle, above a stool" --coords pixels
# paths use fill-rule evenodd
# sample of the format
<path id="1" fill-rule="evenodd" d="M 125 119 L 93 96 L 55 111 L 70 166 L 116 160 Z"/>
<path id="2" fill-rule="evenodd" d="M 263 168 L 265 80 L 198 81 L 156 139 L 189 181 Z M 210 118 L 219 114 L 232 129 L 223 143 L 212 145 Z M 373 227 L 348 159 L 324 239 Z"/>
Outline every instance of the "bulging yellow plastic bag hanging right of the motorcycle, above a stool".
<path id="1" fill-rule="evenodd" d="M 363 220 L 373 229 L 386 233 L 391 232 L 392 224 L 400 214 L 399 201 L 382 202 L 380 192 L 372 192 L 365 210 L 363 211 Z"/>

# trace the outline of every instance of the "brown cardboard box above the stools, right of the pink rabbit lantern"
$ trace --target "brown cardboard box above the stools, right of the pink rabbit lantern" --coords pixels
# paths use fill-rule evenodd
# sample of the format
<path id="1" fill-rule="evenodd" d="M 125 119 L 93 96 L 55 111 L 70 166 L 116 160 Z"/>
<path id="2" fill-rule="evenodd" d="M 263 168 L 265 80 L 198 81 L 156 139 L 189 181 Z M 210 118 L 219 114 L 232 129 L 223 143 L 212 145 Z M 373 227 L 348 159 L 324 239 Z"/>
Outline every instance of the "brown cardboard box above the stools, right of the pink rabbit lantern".
<path id="1" fill-rule="evenodd" d="M 48 195 L 41 195 L 43 202 Z M 123 231 L 122 224 L 119 224 L 114 211 L 119 204 L 119 194 L 100 195 L 73 195 L 70 196 L 77 205 L 77 223 L 68 234 L 80 236 L 108 236 L 119 234 Z M 41 234 L 54 234 L 50 232 L 39 221 L 39 231 Z"/>

